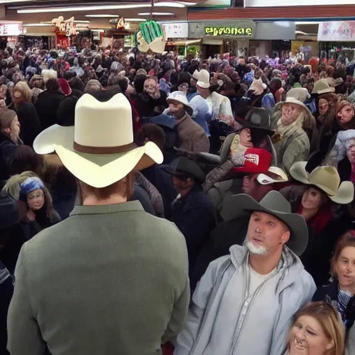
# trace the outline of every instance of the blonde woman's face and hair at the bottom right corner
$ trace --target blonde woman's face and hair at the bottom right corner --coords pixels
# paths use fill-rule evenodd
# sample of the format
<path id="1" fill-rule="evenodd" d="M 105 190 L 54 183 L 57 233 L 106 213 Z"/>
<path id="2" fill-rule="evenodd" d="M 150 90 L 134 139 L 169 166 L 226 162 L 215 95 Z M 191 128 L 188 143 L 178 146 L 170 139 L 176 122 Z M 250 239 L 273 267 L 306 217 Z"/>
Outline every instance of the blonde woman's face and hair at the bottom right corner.
<path id="1" fill-rule="evenodd" d="M 344 355 L 344 327 L 330 304 L 309 303 L 297 313 L 285 355 Z"/>

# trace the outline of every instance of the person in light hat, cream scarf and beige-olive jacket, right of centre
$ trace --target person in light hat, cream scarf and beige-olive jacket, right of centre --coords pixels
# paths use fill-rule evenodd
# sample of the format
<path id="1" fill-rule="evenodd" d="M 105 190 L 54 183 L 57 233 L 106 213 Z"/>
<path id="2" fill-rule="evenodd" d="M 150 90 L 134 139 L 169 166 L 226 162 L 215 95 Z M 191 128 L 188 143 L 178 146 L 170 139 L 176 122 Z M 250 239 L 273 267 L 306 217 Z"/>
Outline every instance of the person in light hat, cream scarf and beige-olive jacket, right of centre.
<path id="1" fill-rule="evenodd" d="M 310 139 L 303 127 L 311 125 L 310 135 L 316 144 L 315 119 L 308 107 L 288 97 L 275 106 L 272 112 L 272 126 L 276 133 L 272 137 L 278 159 L 278 166 L 289 173 L 295 162 L 304 161 L 311 151 Z"/>

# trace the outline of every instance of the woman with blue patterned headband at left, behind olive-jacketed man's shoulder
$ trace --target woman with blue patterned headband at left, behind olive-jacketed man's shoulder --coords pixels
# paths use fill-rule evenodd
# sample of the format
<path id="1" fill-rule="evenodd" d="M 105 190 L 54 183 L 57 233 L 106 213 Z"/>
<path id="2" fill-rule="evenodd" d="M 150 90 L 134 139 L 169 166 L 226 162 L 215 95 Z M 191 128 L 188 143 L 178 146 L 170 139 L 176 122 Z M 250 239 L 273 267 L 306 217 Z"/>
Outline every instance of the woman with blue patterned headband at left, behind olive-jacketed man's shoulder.
<path id="1" fill-rule="evenodd" d="M 26 202 L 27 214 L 21 220 L 21 225 L 24 227 L 27 239 L 60 222 L 60 216 L 53 208 L 51 193 L 32 171 L 13 175 L 6 182 L 1 193 L 14 200 Z"/>

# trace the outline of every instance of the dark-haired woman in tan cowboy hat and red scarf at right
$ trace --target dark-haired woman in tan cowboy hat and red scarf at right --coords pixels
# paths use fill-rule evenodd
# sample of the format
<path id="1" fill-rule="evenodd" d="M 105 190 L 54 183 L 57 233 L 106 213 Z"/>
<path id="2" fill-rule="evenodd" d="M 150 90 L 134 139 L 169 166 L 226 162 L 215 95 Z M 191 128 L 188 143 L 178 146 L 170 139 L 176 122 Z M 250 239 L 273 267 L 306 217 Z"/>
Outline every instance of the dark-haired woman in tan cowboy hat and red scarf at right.
<path id="1" fill-rule="evenodd" d="M 354 184 L 340 183 L 334 166 L 318 166 L 309 173 L 310 165 L 307 162 L 293 164 L 291 176 L 302 185 L 284 187 L 280 193 L 291 203 L 293 212 L 306 220 L 309 243 L 301 261 L 315 284 L 321 286 L 329 280 L 331 254 L 342 232 L 333 207 L 354 200 Z"/>

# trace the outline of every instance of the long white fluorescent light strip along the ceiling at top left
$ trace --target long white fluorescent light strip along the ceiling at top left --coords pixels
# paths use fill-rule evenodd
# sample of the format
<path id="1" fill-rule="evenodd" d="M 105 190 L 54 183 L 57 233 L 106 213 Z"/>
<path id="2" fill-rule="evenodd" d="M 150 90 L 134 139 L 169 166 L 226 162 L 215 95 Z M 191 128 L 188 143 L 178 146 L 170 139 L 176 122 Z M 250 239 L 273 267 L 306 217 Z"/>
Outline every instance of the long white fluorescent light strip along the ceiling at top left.
<path id="1" fill-rule="evenodd" d="M 67 8 L 24 8 L 17 10 L 19 14 L 34 14 L 39 12 L 69 12 L 69 11 L 96 11 L 96 10 L 120 10 L 131 8 L 150 8 L 150 3 L 132 3 L 125 5 L 103 5 L 103 6 L 70 6 Z M 178 2 L 155 3 L 155 8 L 185 8 L 184 4 Z"/>

